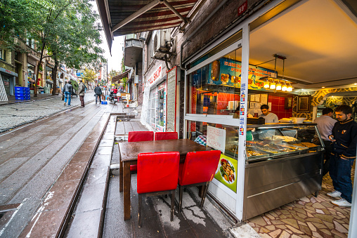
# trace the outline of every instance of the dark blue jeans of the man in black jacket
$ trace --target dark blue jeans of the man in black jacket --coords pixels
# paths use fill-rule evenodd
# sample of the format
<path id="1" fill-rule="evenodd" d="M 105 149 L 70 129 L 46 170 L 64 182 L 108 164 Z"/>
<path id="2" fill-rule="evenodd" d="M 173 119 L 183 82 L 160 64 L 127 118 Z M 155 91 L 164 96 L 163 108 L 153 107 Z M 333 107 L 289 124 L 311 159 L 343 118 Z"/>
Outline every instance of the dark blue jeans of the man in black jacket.
<path id="1" fill-rule="evenodd" d="M 354 159 L 341 159 L 339 155 L 330 156 L 330 176 L 335 190 L 341 192 L 341 197 L 352 202 L 351 169 Z"/>

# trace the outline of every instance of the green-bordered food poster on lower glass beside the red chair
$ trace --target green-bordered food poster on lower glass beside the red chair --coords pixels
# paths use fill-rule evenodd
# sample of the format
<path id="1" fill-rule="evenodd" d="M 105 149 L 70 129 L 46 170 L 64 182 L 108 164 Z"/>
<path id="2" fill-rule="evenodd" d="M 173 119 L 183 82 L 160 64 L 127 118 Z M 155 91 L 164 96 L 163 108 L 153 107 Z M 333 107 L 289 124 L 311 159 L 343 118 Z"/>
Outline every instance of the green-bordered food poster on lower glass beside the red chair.
<path id="1" fill-rule="evenodd" d="M 237 192 L 237 164 L 238 161 L 236 159 L 221 154 L 221 159 L 219 159 L 218 168 L 214 175 L 216 180 L 219 180 L 233 192 Z"/>

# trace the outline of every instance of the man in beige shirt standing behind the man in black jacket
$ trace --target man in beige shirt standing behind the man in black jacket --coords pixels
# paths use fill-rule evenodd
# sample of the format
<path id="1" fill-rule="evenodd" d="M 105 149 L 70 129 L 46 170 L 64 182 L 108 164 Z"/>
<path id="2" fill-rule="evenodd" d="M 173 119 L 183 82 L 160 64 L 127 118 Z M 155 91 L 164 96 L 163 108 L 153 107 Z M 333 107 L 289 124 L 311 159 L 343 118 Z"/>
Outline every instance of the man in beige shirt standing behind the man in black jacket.
<path id="1" fill-rule="evenodd" d="M 318 131 L 320 132 L 321 138 L 323 138 L 323 143 L 325 144 L 325 163 L 323 164 L 323 176 L 329 171 L 330 167 L 330 154 L 332 152 L 332 141 L 328 138 L 332 134 L 332 128 L 337 122 L 332 119 L 333 110 L 331 108 L 324 108 L 323 115 L 318 117 L 313 121 L 313 123 L 318 124 Z"/>

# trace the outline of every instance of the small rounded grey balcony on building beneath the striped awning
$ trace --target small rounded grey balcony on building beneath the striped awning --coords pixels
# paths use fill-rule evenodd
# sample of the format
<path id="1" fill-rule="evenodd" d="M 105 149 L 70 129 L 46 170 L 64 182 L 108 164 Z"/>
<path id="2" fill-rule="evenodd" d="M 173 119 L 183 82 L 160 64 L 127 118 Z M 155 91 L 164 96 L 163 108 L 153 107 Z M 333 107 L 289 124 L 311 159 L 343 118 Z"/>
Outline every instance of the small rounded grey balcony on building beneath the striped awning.
<path id="1" fill-rule="evenodd" d="M 136 62 L 141 61 L 143 52 L 143 42 L 136 34 L 127 34 L 125 37 L 124 65 L 135 67 Z"/>

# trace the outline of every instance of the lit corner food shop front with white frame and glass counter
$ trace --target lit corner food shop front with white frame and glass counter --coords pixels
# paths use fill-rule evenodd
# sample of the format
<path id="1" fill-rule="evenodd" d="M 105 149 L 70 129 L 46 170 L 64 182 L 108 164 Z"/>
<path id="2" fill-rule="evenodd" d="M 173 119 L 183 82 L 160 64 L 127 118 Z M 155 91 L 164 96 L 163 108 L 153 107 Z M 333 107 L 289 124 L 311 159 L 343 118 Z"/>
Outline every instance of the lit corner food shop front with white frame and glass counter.
<path id="1" fill-rule="evenodd" d="M 320 190 L 324 149 L 313 143 L 315 135 L 321 143 L 316 126 L 262 125 L 247 116 L 257 117 L 262 104 L 279 119 L 299 116 L 303 110 L 310 113 L 311 101 L 298 101 L 302 90 L 325 86 L 324 80 L 331 81 L 330 86 L 339 79 L 356 83 L 354 67 L 330 59 L 344 69 L 337 73 L 328 66 L 328 56 L 316 58 L 318 52 L 344 55 L 345 62 L 356 64 L 349 52 L 356 47 L 344 46 L 351 45 L 349 39 L 328 33 L 336 24 L 341 32 L 356 32 L 356 22 L 330 2 L 273 1 L 183 60 L 188 69 L 184 135 L 192 140 L 205 135 L 207 145 L 222 151 L 209 194 L 238 220 Z M 343 53 L 323 41 L 339 45 Z M 274 65 L 275 54 L 279 57 Z"/>

